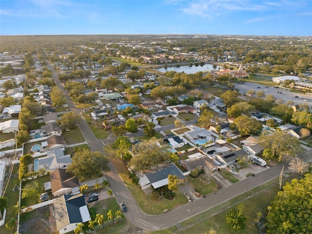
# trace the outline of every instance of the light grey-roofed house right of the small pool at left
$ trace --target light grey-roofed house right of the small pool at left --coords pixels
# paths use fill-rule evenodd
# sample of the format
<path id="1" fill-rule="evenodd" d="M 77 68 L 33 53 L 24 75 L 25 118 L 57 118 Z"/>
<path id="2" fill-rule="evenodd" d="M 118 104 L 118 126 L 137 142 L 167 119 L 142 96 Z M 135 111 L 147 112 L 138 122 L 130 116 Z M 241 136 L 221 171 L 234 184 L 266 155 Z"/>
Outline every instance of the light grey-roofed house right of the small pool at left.
<path id="1" fill-rule="evenodd" d="M 64 155 L 62 149 L 53 149 L 47 152 L 47 156 L 40 157 L 38 160 L 35 160 L 35 170 L 44 169 L 47 171 L 64 169 L 72 163 L 70 155 Z"/>

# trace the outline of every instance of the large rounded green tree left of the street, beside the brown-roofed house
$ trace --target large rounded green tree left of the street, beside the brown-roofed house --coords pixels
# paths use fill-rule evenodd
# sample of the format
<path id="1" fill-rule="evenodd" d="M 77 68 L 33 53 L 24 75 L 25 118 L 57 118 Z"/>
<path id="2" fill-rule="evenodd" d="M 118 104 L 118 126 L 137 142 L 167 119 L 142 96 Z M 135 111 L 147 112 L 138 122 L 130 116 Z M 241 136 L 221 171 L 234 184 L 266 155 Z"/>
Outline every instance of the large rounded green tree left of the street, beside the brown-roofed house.
<path id="1" fill-rule="evenodd" d="M 108 167 L 109 159 L 99 151 L 92 152 L 89 149 L 79 149 L 74 153 L 72 161 L 67 171 L 81 177 L 82 180 L 98 176 L 103 171 L 110 170 Z"/>

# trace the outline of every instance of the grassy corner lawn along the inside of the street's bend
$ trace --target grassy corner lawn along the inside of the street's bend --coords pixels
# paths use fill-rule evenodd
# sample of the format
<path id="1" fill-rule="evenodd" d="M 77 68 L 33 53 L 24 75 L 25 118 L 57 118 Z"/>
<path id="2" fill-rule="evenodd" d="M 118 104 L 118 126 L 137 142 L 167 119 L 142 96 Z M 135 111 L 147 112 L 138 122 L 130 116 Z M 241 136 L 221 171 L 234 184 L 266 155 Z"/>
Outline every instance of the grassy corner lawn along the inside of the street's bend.
<path id="1" fill-rule="evenodd" d="M 117 159 L 115 149 L 112 148 L 116 149 L 115 144 L 104 146 L 104 151 L 118 171 L 121 179 L 124 181 L 125 185 L 134 196 L 138 206 L 144 213 L 161 214 L 165 209 L 172 210 L 188 202 L 184 194 L 182 194 L 180 191 L 176 191 L 176 196 L 172 201 L 165 198 L 159 200 L 152 199 L 151 193 L 146 194 L 137 185 L 132 183 L 132 181 L 129 179 L 129 171 L 127 167 L 122 162 L 120 162 L 119 159 Z"/>

